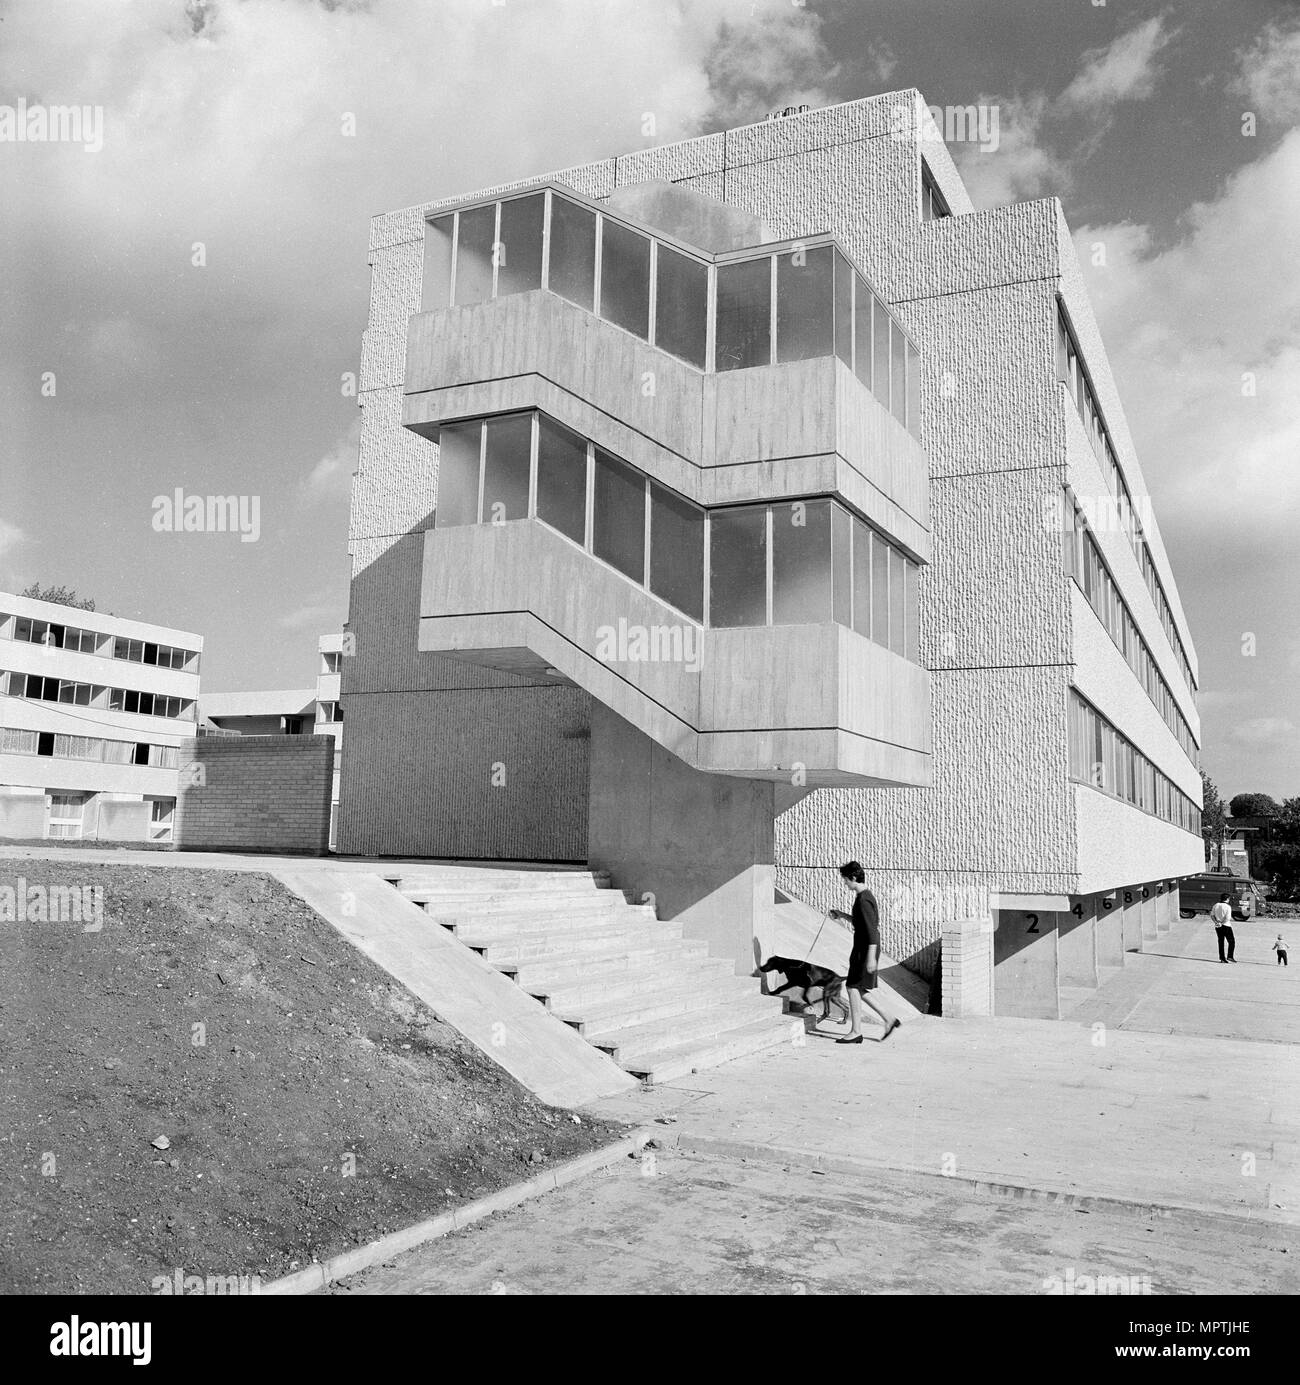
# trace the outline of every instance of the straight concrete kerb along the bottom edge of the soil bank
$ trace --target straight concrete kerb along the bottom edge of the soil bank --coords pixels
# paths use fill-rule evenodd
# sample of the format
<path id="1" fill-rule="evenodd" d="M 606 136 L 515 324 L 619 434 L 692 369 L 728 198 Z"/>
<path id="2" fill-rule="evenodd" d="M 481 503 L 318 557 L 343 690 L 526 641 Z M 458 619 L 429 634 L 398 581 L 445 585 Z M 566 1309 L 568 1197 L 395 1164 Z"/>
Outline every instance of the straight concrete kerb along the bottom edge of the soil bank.
<path id="1" fill-rule="evenodd" d="M 367 1270 L 374 1265 L 381 1265 L 395 1255 L 414 1251 L 417 1246 L 436 1241 L 451 1231 L 460 1231 L 475 1222 L 482 1222 L 494 1212 L 509 1212 L 533 1198 L 552 1192 L 555 1188 L 566 1187 L 601 1169 L 608 1169 L 620 1159 L 640 1154 L 651 1140 L 658 1144 L 666 1143 L 662 1130 L 652 1126 L 641 1126 L 631 1134 L 622 1136 L 613 1144 L 580 1154 L 573 1159 L 565 1159 L 563 1163 L 548 1169 L 545 1173 L 525 1179 L 522 1183 L 512 1183 L 508 1187 L 498 1188 L 496 1192 L 489 1192 L 487 1197 L 475 1198 L 473 1202 L 467 1202 L 464 1206 L 442 1212 L 424 1222 L 415 1222 L 400 1231 L 390 1231 L 388 1235 L 381 1235 L 378 1240 L 360 1245 L 354 1251 L 343 1251 L 339 1255 L 329 1256 L 328 1260 L 317 1260 L 305 1270 L 284 1274 L 278 1280 L 271 1280 L 270 1284 L 263 1284 L 260 1292 L 276 1295 L 316 1294 L 331 1284 L 336 1284 L 339 1280 Z"/>

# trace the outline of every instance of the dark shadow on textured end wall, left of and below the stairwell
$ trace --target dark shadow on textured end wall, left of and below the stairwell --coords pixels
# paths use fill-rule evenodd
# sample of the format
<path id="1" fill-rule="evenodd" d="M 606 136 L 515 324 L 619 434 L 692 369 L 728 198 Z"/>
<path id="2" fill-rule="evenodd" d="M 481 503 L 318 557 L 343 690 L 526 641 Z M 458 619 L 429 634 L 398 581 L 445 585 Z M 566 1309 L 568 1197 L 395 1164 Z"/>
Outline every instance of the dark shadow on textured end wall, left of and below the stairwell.
<path id="1" fill-rule="evenodd" d="M 572 686 L 421 654 L 424 532 L 352 582 L 342 663 L 347 751 L 338 850 L 586 861 L 588 697 Z"/>

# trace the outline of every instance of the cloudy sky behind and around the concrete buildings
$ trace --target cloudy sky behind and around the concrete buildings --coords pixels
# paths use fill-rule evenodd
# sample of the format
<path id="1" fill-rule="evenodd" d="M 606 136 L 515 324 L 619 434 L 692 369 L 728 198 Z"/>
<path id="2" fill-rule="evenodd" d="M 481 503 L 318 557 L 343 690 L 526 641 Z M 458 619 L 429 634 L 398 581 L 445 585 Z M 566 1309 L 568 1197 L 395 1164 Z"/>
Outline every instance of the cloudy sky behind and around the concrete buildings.
<path id="1" fill-rule="evenodd" d="M 199 632 L 208 691 L 309 684 L 374 213 L 911 86 L 998 111 L 953 145 L 977 208 L 1060 197 L 1203 763 L 1300 795 L 1294 0 L 0 0 L 0 590 Z M 80 143 L 6 137 L 19 101 Z M 177 489 L 258 497 L 256 542 L 159 532 Z"/>

